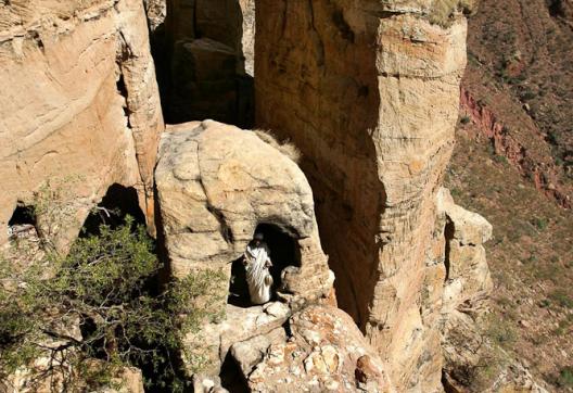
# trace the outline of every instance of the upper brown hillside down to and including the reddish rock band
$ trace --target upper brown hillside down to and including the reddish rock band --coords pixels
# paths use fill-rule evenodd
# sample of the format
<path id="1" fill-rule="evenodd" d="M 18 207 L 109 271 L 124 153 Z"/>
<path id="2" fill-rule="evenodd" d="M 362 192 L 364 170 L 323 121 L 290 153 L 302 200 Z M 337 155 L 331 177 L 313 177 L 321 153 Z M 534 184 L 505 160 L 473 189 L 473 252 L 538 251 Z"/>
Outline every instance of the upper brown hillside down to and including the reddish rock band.
<path id="1" fill-rule="evenodd" d="M 496 153 L 565 208 L 573 198 L 572 9 L 566 0 L 482 1 L 470 20 L 462 92 L 464 112 Z"/>

